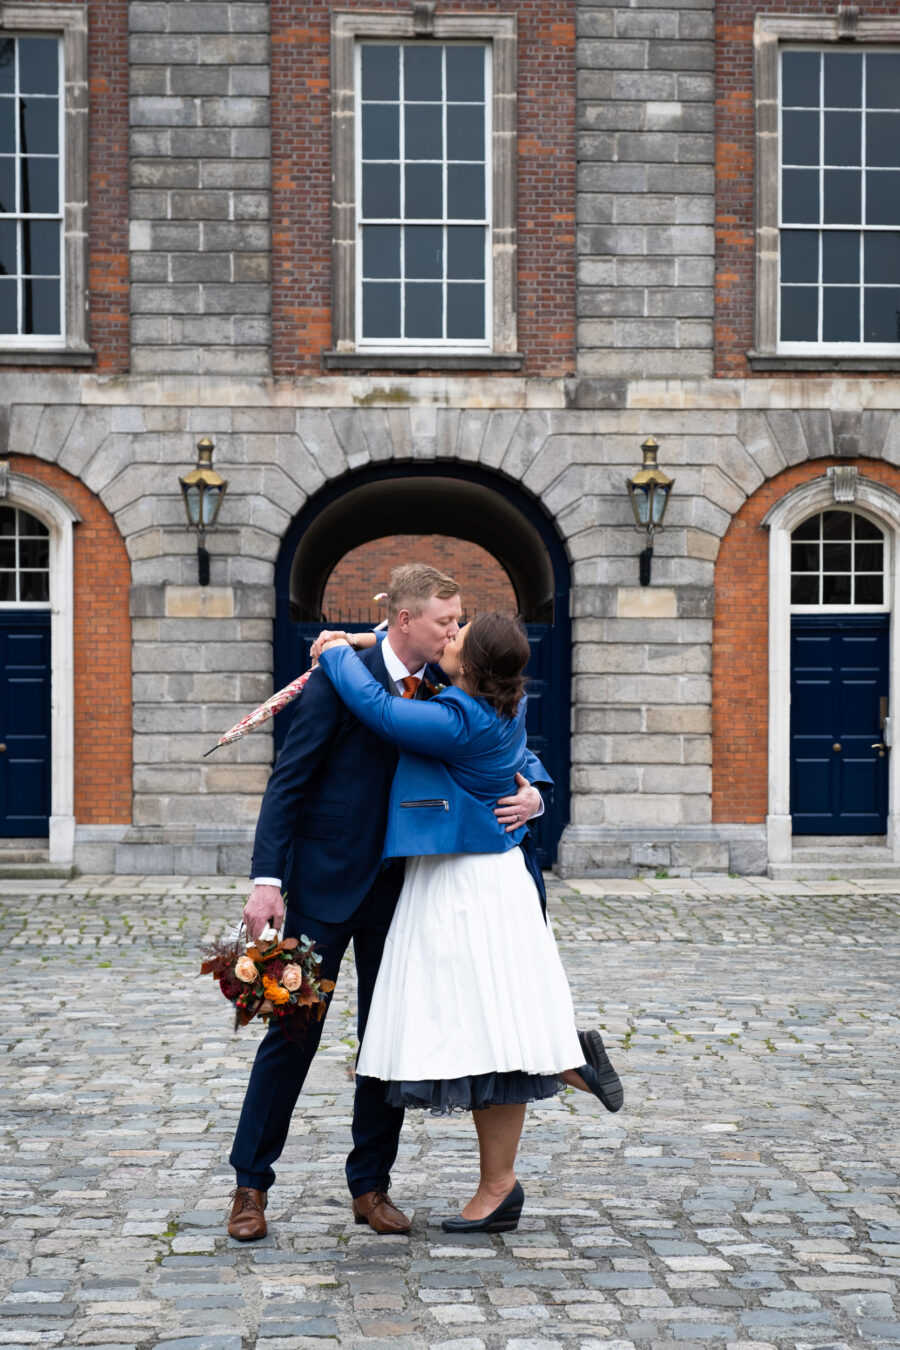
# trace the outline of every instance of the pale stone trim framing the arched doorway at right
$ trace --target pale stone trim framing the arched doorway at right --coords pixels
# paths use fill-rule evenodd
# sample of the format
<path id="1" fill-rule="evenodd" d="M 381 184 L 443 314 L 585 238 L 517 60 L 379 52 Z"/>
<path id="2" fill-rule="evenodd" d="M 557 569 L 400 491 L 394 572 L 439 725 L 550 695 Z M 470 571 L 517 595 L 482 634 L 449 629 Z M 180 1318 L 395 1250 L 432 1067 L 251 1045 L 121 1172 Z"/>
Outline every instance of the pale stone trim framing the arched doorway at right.
<path id="1" fill-rule="evenodd" d="M 762 518 L 769 531 L 769 811 L 766 833 L 770 863 L 792 860 L 791 828 L 791 531 L 815 512 L 841 509 L 827 475 L 787 493 Z M 887 531 L 885 591 L 891 609 L 900 613 L 900 494 L 862 474 L 857 478 L 851 509 L 870 513 Z M 884 613 L 885 606 L 878 612 Z M 854 613 L 865 613 L 861 606 Z M 900 707 L 900 624 L 891 624 L 889 707 Z M 900 755 L 888 767 L 888 844 L 900 861 Z"/>

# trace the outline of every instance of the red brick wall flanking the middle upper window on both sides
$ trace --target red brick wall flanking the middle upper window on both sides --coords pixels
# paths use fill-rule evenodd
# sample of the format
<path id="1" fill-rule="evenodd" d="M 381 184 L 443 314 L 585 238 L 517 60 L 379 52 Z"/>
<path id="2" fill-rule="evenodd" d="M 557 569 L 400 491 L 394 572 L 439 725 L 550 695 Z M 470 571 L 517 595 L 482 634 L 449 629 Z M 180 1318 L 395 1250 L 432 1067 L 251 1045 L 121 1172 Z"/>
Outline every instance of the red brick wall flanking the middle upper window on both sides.
<path id="1" fill-rule="evenodd" d="M 386 0 L 340 8 L 394 8 Z M 271 0 L 273 370 L 320 371 L 332 343 L 329 40 L 333 5 Z M 451 0 L 444 14 L 486 12 Z M 518 347 L 525 370 L 575 364 L 575 5 L 510 0 L 518 18 Z M 381 358 L 390 370 L 390 359 Z"/>

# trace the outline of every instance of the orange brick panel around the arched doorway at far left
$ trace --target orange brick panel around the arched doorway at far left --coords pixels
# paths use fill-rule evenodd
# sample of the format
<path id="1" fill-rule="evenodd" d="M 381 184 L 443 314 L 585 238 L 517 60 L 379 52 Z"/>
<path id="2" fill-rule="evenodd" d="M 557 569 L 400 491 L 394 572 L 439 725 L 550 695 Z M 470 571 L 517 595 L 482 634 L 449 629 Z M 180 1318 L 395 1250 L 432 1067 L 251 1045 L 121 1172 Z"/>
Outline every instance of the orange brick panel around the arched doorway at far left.
<path id="1" fill-rule="evenodd" d="M 131 822 L 131 567 L 116 524 L 84 483 L 13 455 L 9 467 L 78 512 L 74 535 L 74 783 L 81 825 Z"/>

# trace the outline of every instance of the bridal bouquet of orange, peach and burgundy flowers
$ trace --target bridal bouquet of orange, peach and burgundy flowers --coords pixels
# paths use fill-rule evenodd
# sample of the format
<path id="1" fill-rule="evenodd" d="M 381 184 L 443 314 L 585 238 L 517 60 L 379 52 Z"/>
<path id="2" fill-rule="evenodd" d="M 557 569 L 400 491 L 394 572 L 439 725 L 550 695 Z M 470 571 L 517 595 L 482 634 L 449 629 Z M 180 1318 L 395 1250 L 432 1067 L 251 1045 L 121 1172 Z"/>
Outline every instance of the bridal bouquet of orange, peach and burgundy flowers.
<path id="1" fill-rule="evenodd" d="M 208 946 L 200 973 L 212 975 L 233 1004 L 235 1030 L 258 1017 L 278 1022 L 287 1040 L 302 1041 L 313 1013 L 324 1018 L 325 995 L 335 988 L 333 980 L 318 975 L 322 959 L 316 944 L 304 936 L 282 940 L 271 929 L 260 934 L 259 945 L 244 944 L 240 933 Z"/>

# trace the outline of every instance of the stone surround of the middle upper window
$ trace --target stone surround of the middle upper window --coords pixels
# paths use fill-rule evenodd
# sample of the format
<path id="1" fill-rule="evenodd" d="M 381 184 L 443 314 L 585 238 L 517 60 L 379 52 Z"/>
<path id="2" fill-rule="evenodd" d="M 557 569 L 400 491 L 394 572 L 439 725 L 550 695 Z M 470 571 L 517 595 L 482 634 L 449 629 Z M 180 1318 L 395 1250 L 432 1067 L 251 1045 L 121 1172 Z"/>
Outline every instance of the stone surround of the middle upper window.
<path id="1" fill-rule="evenodd" d="M 487 265 L 487 327 L 490 339 L 470 343 L 395 339 L 360 342 L 360 275 L 358 266 L 359 132 L 358 47 L 363 42 L 394 43 L 434 39 L 440 43 L 484 43 L 491 70 L 490 138 L 486 146 L 490 221 Z M 515 117 L 517 117 L 517 19 L 515 15 L 434 14 L 417 4 L 406 11 L 335 11 L 332 14 L 332 351 L 329 369 L 390 366 L 519 369 L 515 275 Z M 359 325 L 362 327 L 362 325 Z"/>

